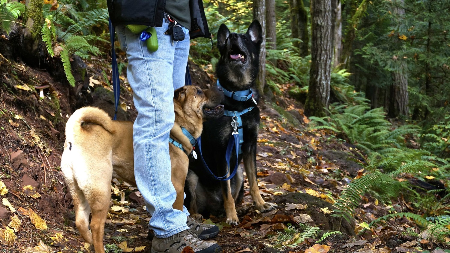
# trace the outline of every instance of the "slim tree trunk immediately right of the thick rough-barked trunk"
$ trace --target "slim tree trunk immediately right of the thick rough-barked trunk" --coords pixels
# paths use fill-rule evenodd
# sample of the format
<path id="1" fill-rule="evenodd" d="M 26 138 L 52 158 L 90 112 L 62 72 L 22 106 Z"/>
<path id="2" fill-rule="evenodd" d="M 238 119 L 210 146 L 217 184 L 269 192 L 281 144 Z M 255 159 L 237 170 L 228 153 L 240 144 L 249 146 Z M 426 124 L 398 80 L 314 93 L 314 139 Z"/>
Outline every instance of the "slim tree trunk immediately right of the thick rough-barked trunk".
<path id="1" fill-rule="evenodd" d="M 333 68 L 339 65 L 342 51 L 342 5 L 341 0 L 332 0 L 333 4 Z"/>

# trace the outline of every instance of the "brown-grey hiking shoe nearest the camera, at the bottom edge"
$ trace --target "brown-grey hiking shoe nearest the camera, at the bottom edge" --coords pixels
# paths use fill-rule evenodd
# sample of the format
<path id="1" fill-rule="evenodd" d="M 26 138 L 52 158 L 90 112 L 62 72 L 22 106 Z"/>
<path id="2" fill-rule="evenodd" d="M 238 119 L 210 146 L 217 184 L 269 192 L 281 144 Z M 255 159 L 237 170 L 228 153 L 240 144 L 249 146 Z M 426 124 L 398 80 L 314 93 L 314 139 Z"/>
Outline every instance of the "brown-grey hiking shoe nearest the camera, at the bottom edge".
<path id="1" fill-rule="evenodd" d="M 153 237 L 151 253 L 181 253 L 184 247 L 195 253 L 222 253 L 219 244 L 205 242 L 189 229 L 168 238 Z"/>

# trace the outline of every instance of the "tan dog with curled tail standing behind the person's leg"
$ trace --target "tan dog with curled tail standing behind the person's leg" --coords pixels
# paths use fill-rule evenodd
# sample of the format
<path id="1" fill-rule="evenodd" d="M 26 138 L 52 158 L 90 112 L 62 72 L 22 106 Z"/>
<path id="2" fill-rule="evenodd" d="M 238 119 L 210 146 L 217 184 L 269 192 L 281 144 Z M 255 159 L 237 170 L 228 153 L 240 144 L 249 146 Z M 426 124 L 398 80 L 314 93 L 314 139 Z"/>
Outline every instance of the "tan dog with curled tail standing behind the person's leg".
<path id="1" fill-rule="evenodd" d="M 171 138 L 186 153 L 169 144 L 171 181 L 177 196 L 173 207 L 183 210 L 184 181 L 188 173 L 192 145 L 184 127 L 194 137 L 202 133 L 202 122 L 223 115 L 224 95 L 216 86 L 201 90 L 184 86 L 175 90 L 175 124 Z M 164 117 L 161 115 L 161 117 Z M 61 157 L 64 180 L 75 207 L 75 224 L 95 252 L 104 253 L 103 233 L 111 199 L 112 177 L 136 185 L 133 158 L 133 122 L 113 121 L 99 108 L 84 107 L 72 114 L 66 124 L 66 141 Z M 89 231 L 89 214 L 92 219 Z"/>

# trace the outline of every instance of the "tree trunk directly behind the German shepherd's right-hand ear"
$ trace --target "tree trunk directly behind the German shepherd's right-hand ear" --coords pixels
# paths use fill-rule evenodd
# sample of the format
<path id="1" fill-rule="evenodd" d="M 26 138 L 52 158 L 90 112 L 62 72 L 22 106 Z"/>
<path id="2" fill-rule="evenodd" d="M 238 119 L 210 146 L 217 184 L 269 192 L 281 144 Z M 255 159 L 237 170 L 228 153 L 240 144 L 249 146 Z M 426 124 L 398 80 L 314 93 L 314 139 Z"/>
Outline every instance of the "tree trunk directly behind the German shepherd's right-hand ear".
<path id="1" fill-rule="evenodd" d="M 253 2 L 253 19 L 257 19 L 262 27 L 262 44 L 259 52 L 259 72 L 256 86 L 260 94 L 264 94 L 266 85 L 266 0 Z"/>

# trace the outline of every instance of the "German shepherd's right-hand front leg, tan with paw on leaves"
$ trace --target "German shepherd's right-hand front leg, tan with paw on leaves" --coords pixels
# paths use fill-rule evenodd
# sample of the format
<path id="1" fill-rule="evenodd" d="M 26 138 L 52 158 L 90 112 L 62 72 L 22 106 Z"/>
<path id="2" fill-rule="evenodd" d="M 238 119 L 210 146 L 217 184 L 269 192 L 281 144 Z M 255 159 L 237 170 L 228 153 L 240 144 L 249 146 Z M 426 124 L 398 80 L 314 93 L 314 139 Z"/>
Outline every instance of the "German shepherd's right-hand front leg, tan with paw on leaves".
<path id="1" fill-rule="evenodd" d="M 255 152 L 250 151 L 243 155 L 245 173 L 247 174 L 248 184 L 250 185 L 250 195 L 252 195 L 253 202 L 260 212 L 267 212 L 275 209 L 275 203 L 269 203 L 262 199 L 259 193 L 258 181 L 256 178 L 256 148 Z"/>

